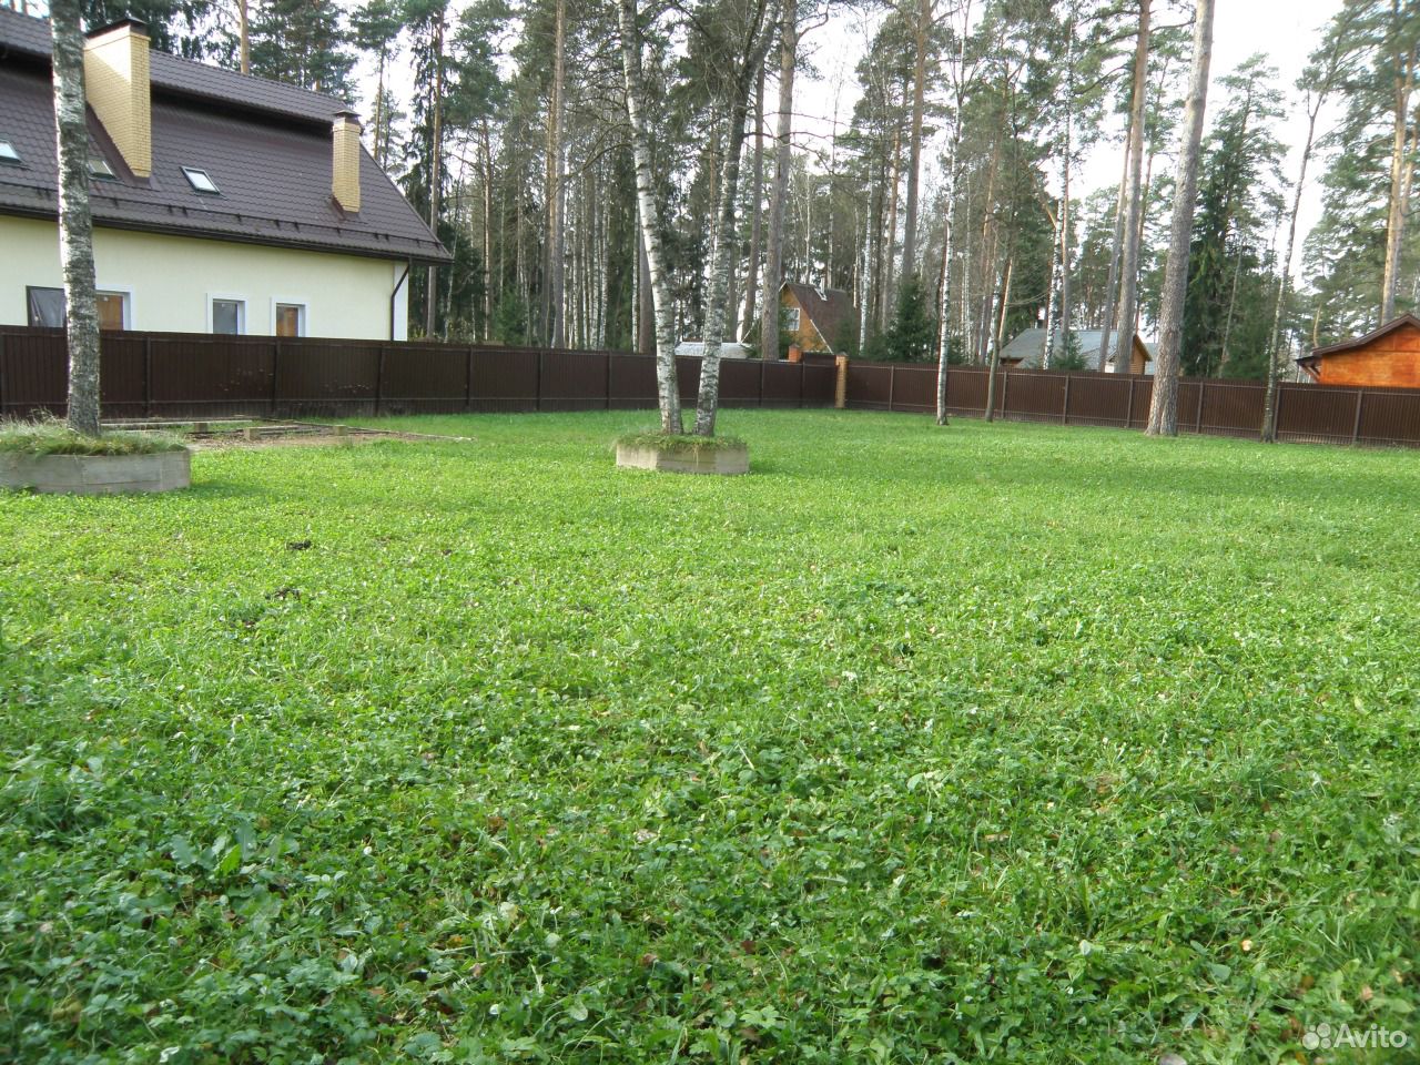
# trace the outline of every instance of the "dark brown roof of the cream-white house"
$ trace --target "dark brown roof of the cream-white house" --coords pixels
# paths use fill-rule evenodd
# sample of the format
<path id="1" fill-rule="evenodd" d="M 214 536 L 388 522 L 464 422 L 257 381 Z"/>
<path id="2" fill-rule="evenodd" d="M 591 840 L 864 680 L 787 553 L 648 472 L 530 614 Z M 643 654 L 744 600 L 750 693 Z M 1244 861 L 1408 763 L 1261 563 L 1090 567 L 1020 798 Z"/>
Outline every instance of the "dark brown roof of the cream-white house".
<path id="1" fill-rule="evenodd" d="M 0 9 L 0 138 L 23 165 L 0 166 L 0 213 L 53 219 L 58 175 L 48 77 L 50 28 Z M 447 261 L 449 253 L 379 165 L 361 153 L 361 210 L 331 196 L 331 121 L 344 101 L 152 53 L 148 180 L 133 178 L 89 112 L 89 139 L 115 180 L 89 185 L 94 220 L 139 229 L 382 258 Z M 203 196 L 183 166 L 222 189 Z"/>

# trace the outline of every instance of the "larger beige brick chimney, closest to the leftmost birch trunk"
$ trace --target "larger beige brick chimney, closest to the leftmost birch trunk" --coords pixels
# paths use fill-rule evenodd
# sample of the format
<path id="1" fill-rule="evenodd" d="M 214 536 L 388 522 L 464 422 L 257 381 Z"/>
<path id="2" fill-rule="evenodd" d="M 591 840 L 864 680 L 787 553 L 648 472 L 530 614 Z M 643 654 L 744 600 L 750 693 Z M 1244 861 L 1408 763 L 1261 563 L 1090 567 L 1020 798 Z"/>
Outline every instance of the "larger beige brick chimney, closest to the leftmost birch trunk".
<path id="1" fill-rule="evenodd" d="M 153 172 L 148 44 L 148 27 L 135 18 L 95 30 L 84 41 L 89 106 L 138 178 L 149 178 Z"/>

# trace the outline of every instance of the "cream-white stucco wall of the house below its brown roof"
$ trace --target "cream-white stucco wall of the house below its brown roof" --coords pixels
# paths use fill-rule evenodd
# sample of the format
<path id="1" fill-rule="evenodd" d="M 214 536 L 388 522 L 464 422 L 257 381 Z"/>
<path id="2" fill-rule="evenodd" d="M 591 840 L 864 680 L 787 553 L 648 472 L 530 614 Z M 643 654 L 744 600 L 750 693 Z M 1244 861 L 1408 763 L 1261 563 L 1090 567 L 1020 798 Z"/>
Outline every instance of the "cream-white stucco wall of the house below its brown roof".
<path id="1" fill-rule="evenodd" d="M 246 332 L 273 334 L 275 304 L 305 305 L 307 337 L 389 338 L 389 297 L 405 273 L 385 258 L 95 229 L 98 287 L 129 294 L 131 329 L 207 332 L 213 297 L 246 301 Z M 26 285 L 60 288 L 57 227 L 0 216 L 0 325 L 26 325 Z M 406 339 L 408 285 L 395 301 Z"/>

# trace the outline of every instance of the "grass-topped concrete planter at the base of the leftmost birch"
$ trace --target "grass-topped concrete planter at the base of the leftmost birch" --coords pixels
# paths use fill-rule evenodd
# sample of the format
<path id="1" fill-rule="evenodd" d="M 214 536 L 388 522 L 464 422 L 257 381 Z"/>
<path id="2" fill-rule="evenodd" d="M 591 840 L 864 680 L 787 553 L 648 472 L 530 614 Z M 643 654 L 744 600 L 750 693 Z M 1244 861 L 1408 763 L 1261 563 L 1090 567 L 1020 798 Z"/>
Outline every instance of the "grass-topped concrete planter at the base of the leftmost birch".
<path id="1" fill-rule="evenodd" d="M 0 426 L 0 488 L 109 496 L 192 484 L 192 454 L 158 433 L 80 436 L 54 422 Z"/>

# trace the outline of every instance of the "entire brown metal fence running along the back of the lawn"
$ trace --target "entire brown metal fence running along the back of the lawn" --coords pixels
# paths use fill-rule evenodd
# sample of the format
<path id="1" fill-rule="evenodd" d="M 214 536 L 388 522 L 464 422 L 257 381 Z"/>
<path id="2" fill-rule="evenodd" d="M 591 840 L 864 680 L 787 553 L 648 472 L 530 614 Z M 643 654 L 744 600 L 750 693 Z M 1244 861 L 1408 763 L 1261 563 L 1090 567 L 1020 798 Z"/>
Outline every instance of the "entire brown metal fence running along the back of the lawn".
<path id="1" fill-rule="evenodd" d="M 679 359 L 677 368 L 680 396 L 693 400 L 700 361 Z M 983 416 L 988 375 L 981 366 L 953 366 L 949 412 Z M 656 365 L 646 355 L 322 338 L 106 332 L 101 381 L 106 417 L 616 410 L 656 403 Z M 832 406 L 835 381 L 831 361 L 727 359 L 720 366 L 726 406 Z M 845 385 L 853 409 L 936 410 L 936 366 L 851 362 Z M 0 327 L 0 416 L 60 415 L 64 393 L 62 331 Z M 1149 376 L 1001 371 L 995 416 L 1140 429 L 1152 393 Z M 1262 396 L 1254 381 L 1181 381 L 1179 429 L 1257 436 Z M 1278 436 L 1420 446 L 1420 390 L 1285 383 Z"/>

